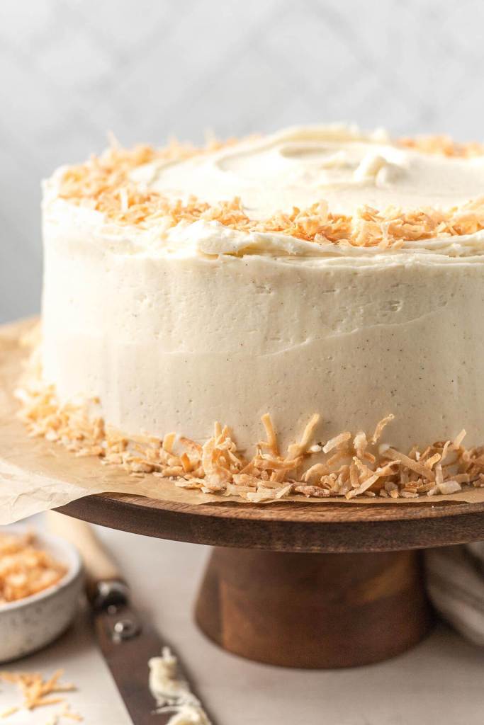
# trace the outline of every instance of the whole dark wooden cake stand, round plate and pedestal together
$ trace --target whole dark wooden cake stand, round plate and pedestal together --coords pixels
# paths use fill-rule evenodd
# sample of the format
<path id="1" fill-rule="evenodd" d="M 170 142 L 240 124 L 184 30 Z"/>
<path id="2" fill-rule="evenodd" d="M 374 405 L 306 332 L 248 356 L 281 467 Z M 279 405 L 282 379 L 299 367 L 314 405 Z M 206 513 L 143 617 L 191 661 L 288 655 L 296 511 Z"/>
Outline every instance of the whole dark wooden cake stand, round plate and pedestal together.
<path id="1" fill-rule="evenodd" d="M 432 623 L 420 552 L 484 539 L 484 502 L 185 505 L 120 494 L 59 509 L 213 550 L 195 607 L 218 645 L 271 665 L 385 660 Z"/>

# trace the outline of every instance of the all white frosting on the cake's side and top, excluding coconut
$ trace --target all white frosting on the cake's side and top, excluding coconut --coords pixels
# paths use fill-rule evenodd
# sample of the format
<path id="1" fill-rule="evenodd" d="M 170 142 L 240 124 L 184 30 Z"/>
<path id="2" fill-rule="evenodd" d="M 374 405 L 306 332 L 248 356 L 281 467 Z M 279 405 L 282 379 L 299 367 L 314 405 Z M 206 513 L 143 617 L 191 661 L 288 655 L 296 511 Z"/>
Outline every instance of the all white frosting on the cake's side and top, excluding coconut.
<path id="1" fill-rule="evenodd" d="M 484 430 L 483 235 L 401 249 L 315 244 L 218 221 L 113 223 L 44 196 L 44 374 L 63 399 L 101 399 L 122 430 L 200 441 L 228 423 L 240 447 L 270 411 L 282 445 L 311 413 L 321 438 L 387 413 L 398 447 Z M 422 154 L 382 133 L 297 128 L 131 172 L 140 188 L 251 218 L 325 199 L 337 212 L 447 208 L 481 196 L 483 157 Z"/>

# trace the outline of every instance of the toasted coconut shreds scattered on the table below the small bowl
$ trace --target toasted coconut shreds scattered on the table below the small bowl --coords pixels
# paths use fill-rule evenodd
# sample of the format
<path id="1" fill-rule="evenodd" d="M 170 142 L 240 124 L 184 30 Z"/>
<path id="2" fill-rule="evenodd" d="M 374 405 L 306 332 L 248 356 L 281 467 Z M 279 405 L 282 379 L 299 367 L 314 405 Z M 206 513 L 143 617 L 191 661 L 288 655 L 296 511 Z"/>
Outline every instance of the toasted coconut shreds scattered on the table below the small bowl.
<path id="1" fill-rule="evenodd" d="M 52 713 L 46 725 L 61 725 L 64 718 L 82 722 L 82 716 L 72 711 L 65 702 L 65 697 L 60 696 L 63 692 L 73 692 L 76 689 L 74 684 L 59 682 L 61 676 L 62 670 L 57 670 L 46 680 L 38 672 L 0 671 L 0 681 L 16 684 L 23 695 L 23 702 L 0 711 L 0 718 L 7 718 L 22 710 L 33 711 L 46 705 L 63 705 L 62 710 Z"/>

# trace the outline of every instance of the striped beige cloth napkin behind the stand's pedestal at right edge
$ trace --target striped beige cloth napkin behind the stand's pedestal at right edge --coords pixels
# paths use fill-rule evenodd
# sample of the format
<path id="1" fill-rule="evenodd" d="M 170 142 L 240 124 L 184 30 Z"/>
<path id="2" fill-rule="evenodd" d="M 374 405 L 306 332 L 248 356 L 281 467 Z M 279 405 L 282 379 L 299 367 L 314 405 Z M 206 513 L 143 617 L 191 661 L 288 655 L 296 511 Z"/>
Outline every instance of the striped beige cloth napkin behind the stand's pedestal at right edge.
<path id="1" fill-rule="evenodd" d="M 484 646 L 484 542 L 425 552 L 427 590 L 438 612 Z"/>

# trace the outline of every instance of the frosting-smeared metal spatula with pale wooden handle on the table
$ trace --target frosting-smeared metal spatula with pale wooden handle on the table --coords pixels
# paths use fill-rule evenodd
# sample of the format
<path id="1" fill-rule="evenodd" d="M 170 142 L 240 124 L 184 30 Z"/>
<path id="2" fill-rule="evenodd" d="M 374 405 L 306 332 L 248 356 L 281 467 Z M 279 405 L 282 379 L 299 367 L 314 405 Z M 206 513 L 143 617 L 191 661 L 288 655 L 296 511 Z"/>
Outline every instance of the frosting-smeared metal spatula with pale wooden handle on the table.
<path id="1" fill-rule="evenodd" d="M 160 636 L 131 606 L 129 587 L 94 529 L 55 511 L 47 517 L 49 529 L 81 554 L 97 642 L 131 720 L 134 725 L 165 725 L 173 713 L 155 713 L 148 684 L 148 661 L 161 654 Z"/>

